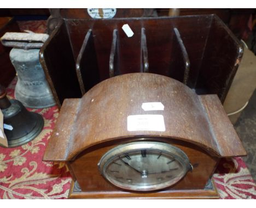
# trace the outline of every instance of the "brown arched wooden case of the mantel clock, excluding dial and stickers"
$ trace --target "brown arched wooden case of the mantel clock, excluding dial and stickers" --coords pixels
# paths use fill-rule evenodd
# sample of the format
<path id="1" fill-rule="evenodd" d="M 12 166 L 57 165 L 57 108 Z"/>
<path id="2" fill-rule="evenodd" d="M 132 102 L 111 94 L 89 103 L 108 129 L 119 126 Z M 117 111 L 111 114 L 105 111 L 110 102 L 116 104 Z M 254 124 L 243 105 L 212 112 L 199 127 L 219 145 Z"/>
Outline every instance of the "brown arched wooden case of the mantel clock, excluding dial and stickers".
<path id="1" fill-rule="evenodd" d="M 161 102 L 164 110 L 144 111 L 146 102 Z M 144 114 L 163 115 L 166 130 L 128 131 L 127 117 Z M 138 140 L 177 146 L 193 170 L 160 191 L 113 186 L 100 174 L 98 162 L 115 146 Z M 170 77 L 132 73 L 98 83 L 81 99 L 64 100 L 44 161 L 67 163 L 73 180 L 69 198 L 218 198 L 207 183 L 219 159 L 242 155 L 246 151 L 217 95 L 197 95 Z"/>

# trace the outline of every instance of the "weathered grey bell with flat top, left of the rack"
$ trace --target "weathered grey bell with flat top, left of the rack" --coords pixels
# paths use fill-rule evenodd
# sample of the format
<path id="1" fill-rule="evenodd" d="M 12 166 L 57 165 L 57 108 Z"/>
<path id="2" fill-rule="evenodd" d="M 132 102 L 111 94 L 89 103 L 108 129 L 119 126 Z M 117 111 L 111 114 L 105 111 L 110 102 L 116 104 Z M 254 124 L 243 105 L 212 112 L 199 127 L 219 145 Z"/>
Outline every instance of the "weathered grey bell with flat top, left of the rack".
<path id="1" fill-rule="evenodd" d="M 40 33 L 7 32 L 0 38 L 4 46 L 13 47 L 10 60 L 18 76 L 14 94 L 26 107 L 47 108 L 56 105 L 39 62 L 40 48 L 48 37 L 48 34 Z"/>

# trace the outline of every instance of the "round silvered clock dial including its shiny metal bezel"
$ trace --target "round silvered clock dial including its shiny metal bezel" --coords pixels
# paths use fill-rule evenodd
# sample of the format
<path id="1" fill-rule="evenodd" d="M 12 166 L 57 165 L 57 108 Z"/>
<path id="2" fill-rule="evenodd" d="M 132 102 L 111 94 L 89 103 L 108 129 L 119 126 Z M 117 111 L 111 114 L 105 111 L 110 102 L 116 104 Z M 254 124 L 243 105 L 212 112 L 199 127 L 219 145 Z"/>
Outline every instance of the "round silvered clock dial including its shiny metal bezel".
<path id="1" fill-rule="evenodd" d="M 98 164 L 113 185 L 133 191 L 153 191 L 173 185 L 191 168 L 187 155 L 170 144 L 132 142 L 109 150 Z"/>

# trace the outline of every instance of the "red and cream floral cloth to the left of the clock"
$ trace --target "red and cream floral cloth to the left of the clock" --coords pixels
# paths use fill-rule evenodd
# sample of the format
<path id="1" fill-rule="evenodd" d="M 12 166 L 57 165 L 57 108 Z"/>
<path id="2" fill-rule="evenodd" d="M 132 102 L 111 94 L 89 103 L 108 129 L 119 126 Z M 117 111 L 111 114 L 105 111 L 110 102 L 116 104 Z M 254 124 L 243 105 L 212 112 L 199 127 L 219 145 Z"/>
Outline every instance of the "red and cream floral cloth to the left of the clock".
<path id="1" fill-rule="evenodd" d="M 7 94 L 14 98 L 16 78 Z M 43 162 L 45 146 L 59 115 L 57 107 L 31 109 L 44 118 L 44 129 L 37 138 L 17 148 L 0 147 L 1 199 L 63 199 L 71 182 L 65 163 Z"/>

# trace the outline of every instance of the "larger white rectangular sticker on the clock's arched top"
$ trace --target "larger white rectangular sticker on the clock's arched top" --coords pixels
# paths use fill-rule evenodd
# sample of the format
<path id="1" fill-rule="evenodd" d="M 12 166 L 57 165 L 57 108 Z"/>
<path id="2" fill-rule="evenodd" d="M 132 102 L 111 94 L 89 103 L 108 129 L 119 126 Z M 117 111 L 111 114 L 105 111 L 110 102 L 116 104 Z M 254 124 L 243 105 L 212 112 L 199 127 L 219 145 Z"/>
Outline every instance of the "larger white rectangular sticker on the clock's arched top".
<path id="1" fill-rule="evenodd" d="M 127 131 L 165 131 L 163 115 L 129 115 Z"/>

